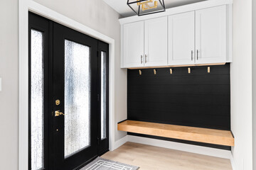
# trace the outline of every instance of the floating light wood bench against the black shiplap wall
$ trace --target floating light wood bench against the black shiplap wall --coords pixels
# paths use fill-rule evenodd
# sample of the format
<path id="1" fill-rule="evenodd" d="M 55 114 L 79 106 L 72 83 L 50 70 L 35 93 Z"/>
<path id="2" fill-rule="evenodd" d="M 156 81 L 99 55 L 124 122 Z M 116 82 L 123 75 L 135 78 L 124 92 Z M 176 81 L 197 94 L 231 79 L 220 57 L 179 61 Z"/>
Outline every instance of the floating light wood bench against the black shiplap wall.
<path id="1" fill-rule="evenodd" d="M 122 123 L 118 123 L 117 130 L 144 135 L 169 137 L 179 140 L 204 142 L 215 145 L 234 146 L 235 144 L 234 137 L 230 130 L 194 128 L 181 125 L 148 123 L 134 120 L 125 120 Z"/>

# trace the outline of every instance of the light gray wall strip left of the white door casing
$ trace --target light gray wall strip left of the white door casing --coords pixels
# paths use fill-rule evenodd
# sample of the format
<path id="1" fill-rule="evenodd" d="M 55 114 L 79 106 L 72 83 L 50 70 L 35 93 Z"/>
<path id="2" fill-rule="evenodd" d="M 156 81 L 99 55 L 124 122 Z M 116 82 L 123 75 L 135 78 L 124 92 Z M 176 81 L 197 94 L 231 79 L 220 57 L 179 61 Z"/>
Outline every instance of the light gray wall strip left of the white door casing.
<path id="1" fill-rule="evenodd" d="M 0 1 L 0 169 L 18 169 L 18 0 Z"/>

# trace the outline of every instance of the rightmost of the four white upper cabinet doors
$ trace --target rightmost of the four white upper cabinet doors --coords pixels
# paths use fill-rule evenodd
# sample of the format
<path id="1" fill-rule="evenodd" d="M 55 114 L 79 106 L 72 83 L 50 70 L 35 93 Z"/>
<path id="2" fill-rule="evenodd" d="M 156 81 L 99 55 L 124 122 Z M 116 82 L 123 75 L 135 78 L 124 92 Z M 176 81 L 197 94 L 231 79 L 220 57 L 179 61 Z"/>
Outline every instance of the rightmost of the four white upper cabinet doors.
<path id="1" fill-rule="evenodd" d="M 196 11 L 196 63 L 225 62 L 226 7 Z"/>

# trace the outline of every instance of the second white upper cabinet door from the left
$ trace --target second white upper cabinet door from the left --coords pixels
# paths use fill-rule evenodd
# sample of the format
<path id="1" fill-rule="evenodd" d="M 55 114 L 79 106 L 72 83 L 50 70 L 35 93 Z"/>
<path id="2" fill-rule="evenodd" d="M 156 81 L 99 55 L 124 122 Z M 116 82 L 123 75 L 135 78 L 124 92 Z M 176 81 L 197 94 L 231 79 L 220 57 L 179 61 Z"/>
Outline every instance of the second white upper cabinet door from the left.
<path id="1" fill-rule="evenodd" d="M 145 21 L 145 67 L 167 65 L 167 16 Z"/>

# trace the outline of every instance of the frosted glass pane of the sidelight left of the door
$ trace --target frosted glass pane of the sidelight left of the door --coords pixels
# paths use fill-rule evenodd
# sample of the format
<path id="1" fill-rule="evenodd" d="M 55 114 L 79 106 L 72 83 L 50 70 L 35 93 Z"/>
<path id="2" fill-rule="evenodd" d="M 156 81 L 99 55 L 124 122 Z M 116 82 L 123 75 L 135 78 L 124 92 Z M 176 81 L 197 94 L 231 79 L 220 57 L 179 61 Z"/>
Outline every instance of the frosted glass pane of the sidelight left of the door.
<path id="1" fill-rule="evenodd" d="M 43 33 L 31 30 L 31 169 L 43 168 Z"/>

